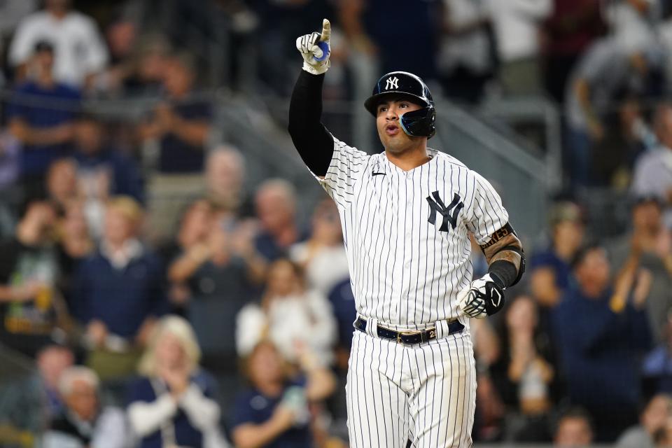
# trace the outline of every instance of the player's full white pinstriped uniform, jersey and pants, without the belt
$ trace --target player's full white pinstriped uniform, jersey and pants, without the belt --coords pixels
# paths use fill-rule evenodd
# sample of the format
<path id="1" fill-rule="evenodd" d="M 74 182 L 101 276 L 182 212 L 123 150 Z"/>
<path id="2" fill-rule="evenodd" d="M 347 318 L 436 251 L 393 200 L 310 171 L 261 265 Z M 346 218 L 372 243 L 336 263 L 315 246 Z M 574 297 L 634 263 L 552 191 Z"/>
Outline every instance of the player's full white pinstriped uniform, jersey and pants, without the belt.
<path id="1" fill-rule="evenodd" d="M 324 179 L 338 205 L 351 285 L 367 332 L 354 331 L 346 386 L 351 447 L 469 447 L 476 370 L 457 294 L 472 280 L 469 232 L 478 244 L 508 222 L 488 181 L 445 153 L 403 171 L 385 153 L 334 139 Z M 447 335 L 459 319 L 462 332 Z M 377 337 L 435 327 L 405 345 Z"/>

